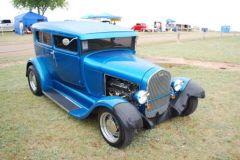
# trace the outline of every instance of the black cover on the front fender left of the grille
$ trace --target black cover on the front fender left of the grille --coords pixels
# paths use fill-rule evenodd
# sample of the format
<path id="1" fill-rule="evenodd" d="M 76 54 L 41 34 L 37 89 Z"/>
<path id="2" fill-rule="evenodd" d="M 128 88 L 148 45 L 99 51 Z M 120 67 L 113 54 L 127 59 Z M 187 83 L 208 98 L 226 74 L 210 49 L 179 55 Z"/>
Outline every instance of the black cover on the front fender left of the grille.
<path id="1" fill-rule="evenodd" d="M 143 127 L 142 114 L 129 102 L 116 104 L 112 110 L 127 129 Z"/>

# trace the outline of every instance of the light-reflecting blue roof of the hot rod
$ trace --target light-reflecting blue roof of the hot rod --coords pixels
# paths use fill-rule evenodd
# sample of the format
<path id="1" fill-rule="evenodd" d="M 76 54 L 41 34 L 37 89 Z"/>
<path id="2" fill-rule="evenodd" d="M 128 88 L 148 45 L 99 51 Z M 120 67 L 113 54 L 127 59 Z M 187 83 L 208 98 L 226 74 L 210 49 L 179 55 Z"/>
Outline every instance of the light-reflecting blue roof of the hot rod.
<path id="1" fill-rule="evenodd" d="M 130 29 L 94 21 L 38 22 L 32 28 L 33 31 L 41 30 L 52 33 L 70 34 L 78 36 L 82 40 L 138 36 L 135 31 Z"/>

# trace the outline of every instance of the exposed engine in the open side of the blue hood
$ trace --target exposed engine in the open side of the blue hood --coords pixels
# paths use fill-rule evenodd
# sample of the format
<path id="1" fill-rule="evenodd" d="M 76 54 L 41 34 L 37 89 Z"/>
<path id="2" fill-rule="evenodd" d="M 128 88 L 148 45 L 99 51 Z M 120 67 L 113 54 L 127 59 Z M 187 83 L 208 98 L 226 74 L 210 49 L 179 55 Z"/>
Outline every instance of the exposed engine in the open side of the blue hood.
<path id="1" fill-rule="evenodd" d="M 133 94 L 139 90 L 139 85 L 123 79 L 106 76 L 106 95 L 119 96 L 134 103 Z"/>

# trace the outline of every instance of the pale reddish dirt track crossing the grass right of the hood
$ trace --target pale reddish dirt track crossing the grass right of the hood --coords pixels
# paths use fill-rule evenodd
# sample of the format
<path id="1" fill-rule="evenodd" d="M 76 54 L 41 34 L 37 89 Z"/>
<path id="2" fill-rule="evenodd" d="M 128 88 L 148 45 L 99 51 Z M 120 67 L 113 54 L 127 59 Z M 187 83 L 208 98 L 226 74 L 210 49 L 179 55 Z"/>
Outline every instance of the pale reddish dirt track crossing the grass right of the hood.
<path id="1" fill-rule="evenodd" d="M 240 65 L 220 62 L 203 62 L 195 60 L 185 60 L 183 58 L 166 58 L 166 57 L 142 57 L 143 59 L 157 64 L 182 64 L 193 65 L 217 70 L 240 71 Z"/>

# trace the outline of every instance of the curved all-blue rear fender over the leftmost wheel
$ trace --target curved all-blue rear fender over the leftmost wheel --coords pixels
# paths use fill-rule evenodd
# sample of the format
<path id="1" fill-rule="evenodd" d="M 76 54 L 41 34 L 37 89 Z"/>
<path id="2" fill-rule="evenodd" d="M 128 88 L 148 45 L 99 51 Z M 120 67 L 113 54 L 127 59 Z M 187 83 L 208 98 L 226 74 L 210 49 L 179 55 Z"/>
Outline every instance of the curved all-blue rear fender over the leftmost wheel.
<path id="1" fill-rule="evenodd" d="M 33 65 L 38 73 L 38 76 L 40 78 L 40 83 L 42 87 L 42 91 L 49 90 L 52 88 L 52 78 L 45 67 L 43 60 L 41 57 L 34 57 L 28 60 L 27 67 L 26 67 L 26 76 L 27 76 L 27 70 L 30 65 Z"/>

